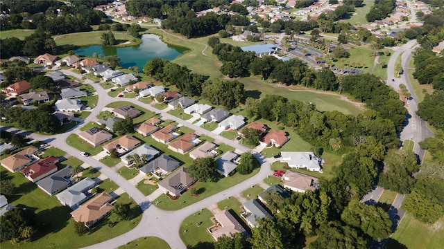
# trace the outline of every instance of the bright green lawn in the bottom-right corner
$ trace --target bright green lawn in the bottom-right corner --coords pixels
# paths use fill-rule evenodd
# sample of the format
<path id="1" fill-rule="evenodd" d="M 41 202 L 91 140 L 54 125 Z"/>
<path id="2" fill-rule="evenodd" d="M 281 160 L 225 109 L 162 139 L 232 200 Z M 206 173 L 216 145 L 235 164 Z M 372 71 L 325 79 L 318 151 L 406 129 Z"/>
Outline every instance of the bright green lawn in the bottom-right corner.
<path id="1" fill-rule="evenodd" d="M 391 239 L 395 239 L 407 248 L 443 248 L 443 223 L 444 220 L 441 218 L 435 225 L 429 225 L 414 219 L 411 214 L 407 213 Z M 393 241 L 388 241 L 384 248 L 397 248 L 393 247 L 393 244 L 395 244 Z"/>

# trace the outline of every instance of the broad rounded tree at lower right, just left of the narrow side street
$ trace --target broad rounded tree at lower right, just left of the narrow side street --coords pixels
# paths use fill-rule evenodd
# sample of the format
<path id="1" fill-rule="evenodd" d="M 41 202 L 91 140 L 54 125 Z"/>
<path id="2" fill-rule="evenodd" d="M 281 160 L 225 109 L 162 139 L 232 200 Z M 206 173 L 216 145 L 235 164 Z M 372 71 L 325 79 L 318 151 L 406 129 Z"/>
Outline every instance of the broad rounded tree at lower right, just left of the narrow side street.
<path id="1" fill-rule="evenodd" d="M 347 225 L 361 229 L 375 240 L 385 239 L 391 234 L 392 222 L 388 213 L 375 205 L 352 201 L 342 212 L 341 219 Z"/>

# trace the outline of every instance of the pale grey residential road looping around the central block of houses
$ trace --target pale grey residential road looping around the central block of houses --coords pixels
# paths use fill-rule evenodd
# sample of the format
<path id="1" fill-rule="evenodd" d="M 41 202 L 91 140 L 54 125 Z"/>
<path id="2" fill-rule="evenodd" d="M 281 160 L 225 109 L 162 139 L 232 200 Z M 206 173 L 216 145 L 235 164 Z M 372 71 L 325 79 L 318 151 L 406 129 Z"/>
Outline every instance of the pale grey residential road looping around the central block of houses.
<path id="1" fill-rule="evenodd" d="M 65 75 L 71 75 L 77 77 L 78 79 L 81 79 L 82 77 L 81 75 L 78 75 L 71 71 L 62 70 L 62 72 L 65 73 Z M 101 86 L 99 86 L 99 84 L 96 84 L 91 80 L 85 80 L 85 83 L 90 84 L 94 87 L 94 89 L 96 89 L 96 93 L 99 95 L 99 101 L 97 102 L 96 107 L 92 109 L 92 113 L 84 120 L 83 124 L 87 124 L 88 122 L 93 121 L 99 114 L 99 112 L 103 110 L 106 104 L 117 101 L 116 98 L 110 97 L 108 93 Z M 249 148 L 244 147 L 243 145 L 239 145 L 239 143 L 233 140 L 228 140 L 212 133 L 211 131 L 196 127 L 196 125 L 191 124 L 190 122 L 181 120 L 180 118 L 172 116 L 169 113 L 155 109 L 149 104 L 144 104 L 142 102 L 139 102 L 138 100 L 128 98 L 119 98 L 118 100 L 131 102 L 133 104 L 139 105 L 140 107 L 144 107 L 149 111 L 160 113 L 160 115 L 162 115 L 164 119 L 171 119 L 178 122 L 179 124 L 183 124 L 186 127 L 194 129 L 196 131 L 196 134 L 205 134 L 207 136 L 211 136 L 216 141 L 230 145 L 235 149 L 243 152 L 250 151 Z M 82 124 L 78 125 L 74 129 L 71 129 L 71 131 L 68 131 L 67 133 L 62 133 L 55 136 L 44 136 L 36 133 L 33 133 L 30 136 L 35 138 L 36 140 L 44 141 L 54 147 L 59 147 L 60 149 L 66 151 L 67 154 L 76 156 L 80 154 L 80 151 L 78 151 L 74 147 L 69 146 L 66 142 L 66 138 L 69 136 L 70 133 L 76 133 L 81 126 Z M 230 187 L 228 190 L 223 190 L 218 194 L 214 194 L 213 196 L 203 199 L 198 203 L 194 203 L 187 206 L 186 208 L 182 208 L 181 210 L 177 211 L 164 211 L 156 208 L 151 202 L 148 201 L 144 194 L 137 190 L 137 188 L 133 184 L 117 174 L 117 172 L 114 172 L 113 169 L 107 167 L 106 165 L 103 165 L 103 163 L 92 158 L 91 156 L 87 158 L 82 158 L 85 163 L 92 165 L 92 167 L 98 169 L 101 173 L 105 174 L 105 176 L 108 176 L 111 181 L 117 183 L 117 185 L 119 185 L 119 187 L 121 187 L 121 189 L 123 189 L 130 196 L 130 198 L 134 199 L 134 201 L 140 206 L 140 208 L 142 208 L 143 212 L 142 220 L 133 230 L 126 232 L 125 234 L 121 234 L 118 237 L 114 237 L 113 239 L 110 239 L 108 241 L 103 241 L 101 243 L 88 246 L 87 248 L 117 248 L 118 246 L 125 245 L 126 243 L 137 238 L 148 236 L 154 236 L 159 237 L 160 239 L 164 239 L 164 241 L 167 241 L 167 243 L 169 243 L 169 246 L 171 246 L 171 248 L 173 249 L 186 248 L 185 244 L 182 242 L 179 236 L 180 223 L 182 223 L 183 219 L 195 212 L 199 212 L 200 210 L 207 208 L 214 203 L 226 199 L 228 196 L 234 196 L 235 194 L 246 190 L 248 187 L 260 183 L 264 180 L 264 178 L 266 178 L 266 176 L 270 174 L 270 163 L 268 162 L 267 158 L 264 158 L 261 154 L 255 151 L 253 151 L 253 155 L 259 160 L 259 163 L 261 163 L 261 169 L 255 176 L 248 178 L 248 180 L 243 181 L 242 183 L 239 183 L 234 187 Z"/>

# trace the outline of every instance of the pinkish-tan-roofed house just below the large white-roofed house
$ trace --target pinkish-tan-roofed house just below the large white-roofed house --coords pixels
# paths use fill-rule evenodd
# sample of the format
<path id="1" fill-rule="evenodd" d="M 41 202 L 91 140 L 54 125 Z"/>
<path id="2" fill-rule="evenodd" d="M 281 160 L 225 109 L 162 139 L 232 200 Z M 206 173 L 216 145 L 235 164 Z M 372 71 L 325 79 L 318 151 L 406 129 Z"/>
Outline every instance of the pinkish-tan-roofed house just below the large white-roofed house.
<path id="1" fill-rule="evenodd" d="M 294 192 L 303 193 L 307 190 L 314 191 L 319 187 L 318 178 L 291 170 L 285 172 L 282 180 L 284 181 L 284 187 Z"/>

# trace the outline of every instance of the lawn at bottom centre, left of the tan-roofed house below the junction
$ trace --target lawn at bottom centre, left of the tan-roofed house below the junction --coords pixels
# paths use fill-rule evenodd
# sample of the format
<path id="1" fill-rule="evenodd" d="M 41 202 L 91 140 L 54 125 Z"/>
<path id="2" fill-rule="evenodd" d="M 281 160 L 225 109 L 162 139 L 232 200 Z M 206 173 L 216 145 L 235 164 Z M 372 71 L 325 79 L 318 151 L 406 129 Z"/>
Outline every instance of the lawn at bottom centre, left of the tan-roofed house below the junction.
<path id="1" fill-rule="evenodd" d="M 182 239 L 186 246 L 197 248 L 194 247 L 197 243 L 206 242 L 205 244 L 200 243 L 200 247 L 198 248 L 213 248 L 212 243 L 214 240 L 207 232 L 207 228 L 213 225 L 211 221 L 212 216 L 214 216 L 214 214 L 205 208 L 202 212 L 196 212 L 182 221 L 179 229 L 180 239 Z"/>

